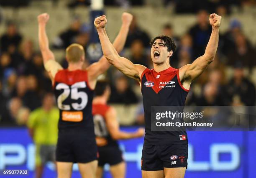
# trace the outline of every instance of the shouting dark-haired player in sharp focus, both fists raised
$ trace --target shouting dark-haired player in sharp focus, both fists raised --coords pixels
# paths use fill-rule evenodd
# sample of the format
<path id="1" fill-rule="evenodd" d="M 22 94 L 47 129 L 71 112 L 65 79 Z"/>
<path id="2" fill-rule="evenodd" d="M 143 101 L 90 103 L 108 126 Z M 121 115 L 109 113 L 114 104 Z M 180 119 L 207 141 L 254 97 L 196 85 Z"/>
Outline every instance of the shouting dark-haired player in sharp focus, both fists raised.
<path id="1" fill-rule="evenodd" d="M 125 75 L 136 79 L 141 85 L 146 130 L 141 158 L 143 178 L 183 178 L 185 175 L 187 132 L 185 130 L 151 131 L 151 107 L 184 106 L 191 82 L 200 76 L 214 60 L 217 51 L 221 17 L 211 14 L 209 20 L 212 33 L 202 56 L 192 64 L 174 69 L 170 66 L 170 58 L 176 49 L 174 41 L 168 36 L 157 36 L 151 41 L 151 59 L 154 69 L 150 70 L 120 57 L 105 31 L 106 16 L 95 18 L 94 24 L 100 37 L 104 56 L 110 64 Z"/>

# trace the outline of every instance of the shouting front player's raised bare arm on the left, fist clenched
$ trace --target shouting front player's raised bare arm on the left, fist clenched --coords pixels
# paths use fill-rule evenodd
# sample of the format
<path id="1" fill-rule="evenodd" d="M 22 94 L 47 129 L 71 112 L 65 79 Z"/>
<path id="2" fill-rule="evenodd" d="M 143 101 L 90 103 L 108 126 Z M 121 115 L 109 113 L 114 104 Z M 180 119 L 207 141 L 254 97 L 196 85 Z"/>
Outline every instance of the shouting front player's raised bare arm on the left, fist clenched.
<path id="1" fill-rule="evenodd" d="M 102 20 L 100 20 L 102 19 Z M 97 24 L 98 23 L 98 24 Z M 105 30 L 105 24 L 107 19 L 105 16 L 101 16 L 95 19 L 95 26 L 99 34 L 102 51 L 107 58 L 108 62 L 115 66 L 118 70 L 123 72 L 126 76 L 140 81 L 142 72 L 146 69 L 145 66 L 133 64 L 130 60 L 120 57 L 114 46 L 111 44 L 108 35 Z"/>

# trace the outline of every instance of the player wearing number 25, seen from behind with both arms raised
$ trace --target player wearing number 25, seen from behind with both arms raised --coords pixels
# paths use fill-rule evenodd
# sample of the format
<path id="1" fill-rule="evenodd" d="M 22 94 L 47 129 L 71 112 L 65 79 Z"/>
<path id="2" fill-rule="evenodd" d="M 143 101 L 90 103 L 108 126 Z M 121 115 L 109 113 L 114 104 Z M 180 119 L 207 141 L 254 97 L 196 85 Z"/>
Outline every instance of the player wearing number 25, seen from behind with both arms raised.
<path id="1" fill-rule="evenodd" d="M 123 49 L 132 18 L 128 13 L 122 15 L 123 23 L 113 43 L 118 52 Z M 73 163 L 78 163 L 82 178 L 93 178 L 97 168 L 97 145 L 92 120 L 93 90 L 97 77 L 110 65 L 102 56 L 98 62 L 83 69 L 84 49 L 79 44 L 71 44 L 66 49 L 68 69 L 62 69 L 49 49 L 45 29 L 48 20 L 47 13 L 38 15 L 39 46 L 60 110 L 56 148 L 58 178 L 70 178 Z"/>

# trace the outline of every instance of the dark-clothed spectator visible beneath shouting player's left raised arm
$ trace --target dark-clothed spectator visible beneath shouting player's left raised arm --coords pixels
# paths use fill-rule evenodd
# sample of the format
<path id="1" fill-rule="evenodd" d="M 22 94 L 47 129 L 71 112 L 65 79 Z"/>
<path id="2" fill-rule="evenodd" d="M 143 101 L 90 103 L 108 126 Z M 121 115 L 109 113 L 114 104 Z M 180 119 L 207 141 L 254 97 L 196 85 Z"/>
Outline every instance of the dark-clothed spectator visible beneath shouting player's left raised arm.
<path id="1" fill-rule="evenodd" d="M 134 104 L 138 98 L 128 84 L 127 77 L 122 75 L 115 80 L 115 86 L 111 89 L 110 103 Z"/>

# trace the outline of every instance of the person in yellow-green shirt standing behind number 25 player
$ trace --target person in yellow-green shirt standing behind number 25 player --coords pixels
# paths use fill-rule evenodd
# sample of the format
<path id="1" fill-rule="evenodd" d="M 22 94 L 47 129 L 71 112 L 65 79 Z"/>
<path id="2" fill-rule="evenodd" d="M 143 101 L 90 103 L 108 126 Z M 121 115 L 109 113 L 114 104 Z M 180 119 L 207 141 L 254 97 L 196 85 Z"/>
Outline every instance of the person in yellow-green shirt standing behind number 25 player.
<path id="1" fill-rule="evenodd" d="M 47 161 L 55 163 L 59 109 L 54 107 L 54 95 L 45 94 L 42 107 L 30 113 L 29 135 L 36 145 L 36 176 L 41 178 Z"/>

